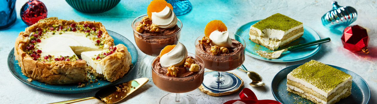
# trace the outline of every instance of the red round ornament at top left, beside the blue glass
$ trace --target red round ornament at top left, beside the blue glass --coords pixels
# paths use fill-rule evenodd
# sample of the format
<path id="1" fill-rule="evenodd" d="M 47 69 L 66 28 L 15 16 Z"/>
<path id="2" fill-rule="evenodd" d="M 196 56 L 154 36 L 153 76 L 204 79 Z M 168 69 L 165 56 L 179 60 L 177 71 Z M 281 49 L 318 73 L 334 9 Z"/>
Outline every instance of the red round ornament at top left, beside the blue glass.
<path id="1" fill-rule="evenodd" d="M 30 26 L 47 17 L 47 8 L 39 0 L 29 0 L 22 6 L 20 16 Z"/>

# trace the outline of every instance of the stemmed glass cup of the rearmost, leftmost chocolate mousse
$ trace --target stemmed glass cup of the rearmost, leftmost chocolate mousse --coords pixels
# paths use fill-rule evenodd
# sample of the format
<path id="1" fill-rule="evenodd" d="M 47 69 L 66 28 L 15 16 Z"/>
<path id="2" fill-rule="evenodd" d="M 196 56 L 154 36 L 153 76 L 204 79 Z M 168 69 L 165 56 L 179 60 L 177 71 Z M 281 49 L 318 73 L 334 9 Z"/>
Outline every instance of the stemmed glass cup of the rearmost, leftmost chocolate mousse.
<path id="1" fill-rule="evenodd" d="M 147 16 L 147 14 L 138 16 L 136 19 L 134 19 L 131 26 L 133 29 L 133 37 L 135 39 L 136 46 L 138 46 L 141 52 L 147 54 L 141 59 L 139 63 L 139 75 L 141 77 L 147 77 L 151 79 L 152 72 L 150 70 L 150 65 L 152 64 L 153 58 L 159 55 L 161 50 L 164 49 L 165 46 L 176 45 L 178 43 L 179 37 L 181 36 L 182 22 L 178 19 L 177 25 L 179 27 L 179 30 L 173 34 L 167 36 L 147 36 L 136 31 L 136 25 L 138 25 L 139 21 L 141 21 L 144 16 Z"/>

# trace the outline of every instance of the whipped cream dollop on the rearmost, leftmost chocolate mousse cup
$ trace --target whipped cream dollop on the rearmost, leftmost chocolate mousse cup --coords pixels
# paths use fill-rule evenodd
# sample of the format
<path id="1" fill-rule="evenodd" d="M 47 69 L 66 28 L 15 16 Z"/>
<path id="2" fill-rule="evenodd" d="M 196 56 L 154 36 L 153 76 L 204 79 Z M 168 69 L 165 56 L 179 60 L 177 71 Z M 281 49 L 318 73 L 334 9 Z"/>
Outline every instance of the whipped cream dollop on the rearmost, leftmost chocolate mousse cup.
<path id="1" fill-rule="evenodd" d="M 159 28 L 173 28 L 178 21 L 177 16 L 168 6 L 161 12 L 152 12 L 152 23 L 157 24 Z"/>

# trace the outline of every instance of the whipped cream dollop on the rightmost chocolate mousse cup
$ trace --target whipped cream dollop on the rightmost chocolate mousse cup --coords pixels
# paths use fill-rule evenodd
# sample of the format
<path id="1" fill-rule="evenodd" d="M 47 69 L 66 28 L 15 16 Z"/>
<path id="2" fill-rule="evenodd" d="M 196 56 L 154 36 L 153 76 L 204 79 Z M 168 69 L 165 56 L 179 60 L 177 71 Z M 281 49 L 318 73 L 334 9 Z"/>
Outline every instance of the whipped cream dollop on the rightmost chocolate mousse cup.
<path id="1" fill-rule="evenodd" d="M 219 46 L 226 48 L 230 48 L 232 46 L 232 40 L 229 38 L 228 31 L 220 32 L 215 30 L 210 34 L 209 37 L 212 40 L 211 46 Z"/>

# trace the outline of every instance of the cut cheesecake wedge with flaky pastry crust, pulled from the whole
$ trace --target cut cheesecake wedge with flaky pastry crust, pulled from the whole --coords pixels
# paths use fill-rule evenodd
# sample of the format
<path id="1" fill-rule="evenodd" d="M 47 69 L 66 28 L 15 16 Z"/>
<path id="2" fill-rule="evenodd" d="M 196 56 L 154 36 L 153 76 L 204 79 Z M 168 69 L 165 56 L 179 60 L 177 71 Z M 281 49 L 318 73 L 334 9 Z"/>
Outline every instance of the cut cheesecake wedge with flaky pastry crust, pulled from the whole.
<path id="1" fill-rule="evenodd" d="M 89 73 L 110 82 L 123 77 L 132 64 L 131 55 L 123 44 L 102 51 L 82 52 L 81 58 L 86 61 Z"/>

